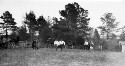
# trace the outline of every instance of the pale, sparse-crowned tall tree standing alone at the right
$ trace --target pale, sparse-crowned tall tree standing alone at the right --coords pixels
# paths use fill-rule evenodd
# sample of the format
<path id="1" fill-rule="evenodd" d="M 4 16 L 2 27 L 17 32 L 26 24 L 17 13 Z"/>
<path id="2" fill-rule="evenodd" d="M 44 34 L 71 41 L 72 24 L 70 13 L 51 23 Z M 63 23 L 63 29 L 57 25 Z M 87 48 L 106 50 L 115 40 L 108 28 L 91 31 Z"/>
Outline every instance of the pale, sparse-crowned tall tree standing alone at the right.
<path id="1" fill-rule="evenodd" d="M 100 18 L 103 22 L 102 26 L 99 26 L 98 28 L 101 29 L 101 32 L 106 34 L 107 39 L 109 38 L 109 33 L 112 33 L 115 28 L 118 25 L 118 22 L 116 22 L 116 18 L 113 16 L 112 13 L 105 13 L 103 17 Z"/>

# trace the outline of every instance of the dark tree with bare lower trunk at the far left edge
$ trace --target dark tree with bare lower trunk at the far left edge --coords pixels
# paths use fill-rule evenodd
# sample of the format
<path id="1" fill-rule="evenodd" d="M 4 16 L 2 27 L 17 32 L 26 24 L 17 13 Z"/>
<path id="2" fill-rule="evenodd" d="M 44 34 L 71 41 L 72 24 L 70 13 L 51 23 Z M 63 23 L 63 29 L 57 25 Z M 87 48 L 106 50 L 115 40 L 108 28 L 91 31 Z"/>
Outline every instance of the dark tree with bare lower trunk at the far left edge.
<path id="1" fill-rule="evenodd" d="M 6 38 L 8 38 L 8 29 L 16 29 L 16 22 L 9 11 L 5 11 L 0 17 L 4 21 L 4 28 L 6 28 Z"/>

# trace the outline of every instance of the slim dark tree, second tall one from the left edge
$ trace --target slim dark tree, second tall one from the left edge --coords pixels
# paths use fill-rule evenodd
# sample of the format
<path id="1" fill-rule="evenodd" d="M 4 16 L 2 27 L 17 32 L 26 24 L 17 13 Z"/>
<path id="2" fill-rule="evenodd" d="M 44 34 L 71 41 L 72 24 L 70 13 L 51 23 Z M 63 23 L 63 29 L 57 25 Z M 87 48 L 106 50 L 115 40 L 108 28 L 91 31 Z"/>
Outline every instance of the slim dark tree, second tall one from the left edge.
<path id="1" fill-rule="evenodd" d="M 28 28 L 29 28 L 29 32 L 31 34 L 31 40 L 33 39 L 33 34 L 34 34 L 34 30 L 37 28 L 37 21 L 36 21 L 36 16 L 34 14 L 33 11 L 30 11 L 30 13 L 26 13 L 26 17 L 25 17 L 25 24 L 27 24 Z"/>

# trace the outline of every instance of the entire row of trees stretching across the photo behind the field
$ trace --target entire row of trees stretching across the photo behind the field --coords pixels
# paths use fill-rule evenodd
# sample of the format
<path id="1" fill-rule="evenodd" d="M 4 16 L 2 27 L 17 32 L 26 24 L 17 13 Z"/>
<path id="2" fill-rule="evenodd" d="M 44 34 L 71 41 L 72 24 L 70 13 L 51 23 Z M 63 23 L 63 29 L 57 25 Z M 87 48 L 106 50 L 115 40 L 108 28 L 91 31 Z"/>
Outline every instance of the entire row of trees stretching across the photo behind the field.
<path id="1" fill-rule="evenodd" d="M 88 39 L 92 28 L 89 25 L 90 18 L 88 17 L 88 10 L 82 8 L 78 3 L 68 3 L 65 5 L 64 10 L 60 10 L 59 14 L 62 16 L 60 19 L 53 17 L 51 20 L 45 19 L 43 15 L 36 18 L 33 11 L 25 14 L 23 26 L 16 27 L 16 22 L 9 11 L 3 13 L 0 17 L 6 24 L 6 37 L 7 30 L 11 29 L 13 32 L 11 36 L 19 35 L 21 41 L 32 40 L 35 31 L 39 31 L 39 38 L 43 43 L 46 43 L 49 38 L 63 39 L 68 42 L 81 39 Z M 105 13 L 101 18 L 103 24 L 98 28 L 101 29 L 101 35 L 106 35 L 109 39 L 109 34 L 113 34 L 117 29 L 118 22 L 112 13 Z M 29 32 L 28 32 L 29 31 Z M 125 36 L 125 33 L 121 37 Z M 96 45 L 100 44 L 100 34 L 98 30 L 94 30 L 94 36 L 91 37 Z M 125 40 L 125 38 L 122 38 Z"/>

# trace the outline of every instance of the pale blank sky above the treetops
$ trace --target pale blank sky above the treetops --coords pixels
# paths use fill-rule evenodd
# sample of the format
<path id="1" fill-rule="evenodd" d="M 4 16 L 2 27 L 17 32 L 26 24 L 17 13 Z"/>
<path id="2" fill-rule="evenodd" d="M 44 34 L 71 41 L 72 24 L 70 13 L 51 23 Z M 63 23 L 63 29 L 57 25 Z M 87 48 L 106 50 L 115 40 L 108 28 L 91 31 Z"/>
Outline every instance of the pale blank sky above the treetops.
<path id="1" fill-rule="evenodd" d="M 77 2 L 82 8 L 88 10 L 90 18 L 89 26 L 98 27 L 102 24 L 100 17 L 104 13 L 113 13 L 118 27 L 125 25 L 125 1 L 124 0 L 0 0 L 0 16 L 9 11 L 18 26 L 22 25 L 25 13 L 34 11 L 36 17 L 43 15 L 61 17 L 59 10 L 64 10 L 68 3 Z M 0 21 L 2 21 L 0 19 Z"/>

